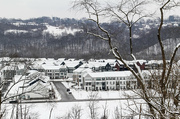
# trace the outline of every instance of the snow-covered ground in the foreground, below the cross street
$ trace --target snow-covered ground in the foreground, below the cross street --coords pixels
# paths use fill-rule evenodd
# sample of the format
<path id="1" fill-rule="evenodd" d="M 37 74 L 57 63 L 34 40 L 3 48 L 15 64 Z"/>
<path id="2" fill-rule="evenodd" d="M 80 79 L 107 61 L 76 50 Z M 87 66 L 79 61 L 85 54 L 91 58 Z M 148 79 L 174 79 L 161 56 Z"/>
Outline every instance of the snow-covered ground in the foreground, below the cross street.
<path id="1" fill-rule="evenodd" d="M 141 101 L 141 100 L 139 100 Z M 142 102 L 142 101 L 141 101 Z M 98 119 L 102 117 L 103 111 L 105 107 L 107 108 L 106 114 L 108 115 L 108 119 L 114 119 L 115 113 L 123 114 L 126 116 L 130 115 L 130 111 L 128 111 L 129 107 L 126 100 L 117 100 L 117 101 L 95 101 L 95 112 L 97 113 Z M 27 107 L 29 109 L 28 115 L 33 119 L 49 119 L 50 112 L 51 119 L 60 119 L 60 117 L 68 116 L 68 114 L 73 114 L 72 109 L 80 109 L 81 110 L 81 119 L 90 119 L 90 110 L 89 105 L 92 102 L 57 102 L 57 103 L 35 103 L 35 104 L 23 104 L 22 107 Z M 12 112 L 12 107 L 15 105 L 8 105 L 6 117 L 4 119 L 10 119 L 10 114 Z M 15 114 L 15 113 L 14 113 Z M 64 118 L 61 118 L 64 119 Z"/>

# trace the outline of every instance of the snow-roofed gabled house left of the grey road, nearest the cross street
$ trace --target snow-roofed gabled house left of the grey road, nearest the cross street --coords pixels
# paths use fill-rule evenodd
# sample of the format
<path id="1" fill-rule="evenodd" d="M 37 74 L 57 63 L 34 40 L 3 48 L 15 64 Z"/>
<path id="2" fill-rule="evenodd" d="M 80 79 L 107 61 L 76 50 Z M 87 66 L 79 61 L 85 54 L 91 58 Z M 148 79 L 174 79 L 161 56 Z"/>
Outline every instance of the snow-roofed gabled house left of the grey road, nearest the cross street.
<path id="1" fill-rule="evenodd" d="M 10 100 L 52 98 L 52 87 L 49 83 L 49 77 L 41 72 L 28 71 L 26 76 L 16 75 L 13 80 L 14 82 L 10 84 L 7 90 L 9 92 L 5 93 L 5 96 L 17 95 L 17 97 L 13 97 Z"/>

